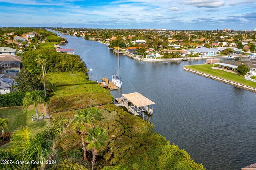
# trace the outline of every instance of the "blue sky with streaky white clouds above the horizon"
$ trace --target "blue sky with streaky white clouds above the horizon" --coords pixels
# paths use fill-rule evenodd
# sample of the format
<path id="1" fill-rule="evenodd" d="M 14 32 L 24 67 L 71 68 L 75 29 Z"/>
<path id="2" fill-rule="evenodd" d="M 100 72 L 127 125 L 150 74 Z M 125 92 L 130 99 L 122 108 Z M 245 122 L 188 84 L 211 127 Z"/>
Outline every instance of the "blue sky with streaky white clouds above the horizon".
<path id="1" fill-rule="evenodd" d="M 0 0 L 0 27 L 256 28 L 256 0 Z"/>

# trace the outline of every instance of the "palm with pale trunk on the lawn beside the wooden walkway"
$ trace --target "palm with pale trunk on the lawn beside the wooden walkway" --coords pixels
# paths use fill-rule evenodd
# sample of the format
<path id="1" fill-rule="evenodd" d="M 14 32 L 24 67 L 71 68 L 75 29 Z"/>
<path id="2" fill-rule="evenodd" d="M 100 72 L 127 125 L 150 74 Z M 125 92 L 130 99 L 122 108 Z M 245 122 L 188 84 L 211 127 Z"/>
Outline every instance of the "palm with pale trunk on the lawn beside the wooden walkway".
<path id="1" fill-rule="evenodd" d="M 22 100 L 24 110 L 28 109 L 30 104 L 34 105 L 34 109 L 36 110 L 36 119 L 39 121 L 37 106 L 40 103 L 44 103 L 45 105 L 45 102 L 44 99 L 38 94 L 38 91 L 33 90 L 32 92 L 26 92 L 26 95 Z"/>

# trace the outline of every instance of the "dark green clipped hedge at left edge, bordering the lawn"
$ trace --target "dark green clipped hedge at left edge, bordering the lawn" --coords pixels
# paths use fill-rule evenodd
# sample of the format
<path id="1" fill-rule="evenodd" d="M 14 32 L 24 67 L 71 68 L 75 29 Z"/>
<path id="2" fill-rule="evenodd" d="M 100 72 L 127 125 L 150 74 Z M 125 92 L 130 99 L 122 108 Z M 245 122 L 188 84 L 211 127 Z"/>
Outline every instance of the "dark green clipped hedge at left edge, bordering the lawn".
<path id="1" fill-rule="evenodd" d="M 25 92 L 14 92 L 0 95 L 0 107 L 21 106 Z"/>

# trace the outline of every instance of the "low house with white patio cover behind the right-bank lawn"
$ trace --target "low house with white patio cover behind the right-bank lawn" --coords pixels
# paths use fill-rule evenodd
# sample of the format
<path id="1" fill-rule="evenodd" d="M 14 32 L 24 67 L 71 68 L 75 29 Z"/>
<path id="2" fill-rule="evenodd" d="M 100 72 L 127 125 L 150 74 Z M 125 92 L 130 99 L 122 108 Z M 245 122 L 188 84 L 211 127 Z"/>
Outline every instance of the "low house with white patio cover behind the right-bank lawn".
<path id="1" fill-rule="evenodd" d="M 251 74 L 256 74 L 256 62 L 251 61 L 222 61 L 214 64 L 218 64 L 219 68 L 225 68 L 226 70 L 232 70 L 235 72 L 240 65 L 246 65 L 250 69 Z"/>

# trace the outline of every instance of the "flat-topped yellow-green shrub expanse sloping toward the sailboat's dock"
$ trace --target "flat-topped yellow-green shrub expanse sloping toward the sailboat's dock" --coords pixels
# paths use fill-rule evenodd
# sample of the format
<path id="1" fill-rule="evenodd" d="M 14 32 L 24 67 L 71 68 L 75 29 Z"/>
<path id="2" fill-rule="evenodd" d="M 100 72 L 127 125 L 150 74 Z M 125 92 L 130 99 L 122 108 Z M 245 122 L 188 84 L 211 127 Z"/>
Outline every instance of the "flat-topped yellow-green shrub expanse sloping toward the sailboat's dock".
<path id="1" fill-rule="evenodd" d="M 57 86 L 50 98 L 50 111 L 112 102 L 108 90 L 100 87 L 97 82 L 86 79 L 87 76 L 83 73 L 51 73 L 47 74 L 47 78 Z"/>

